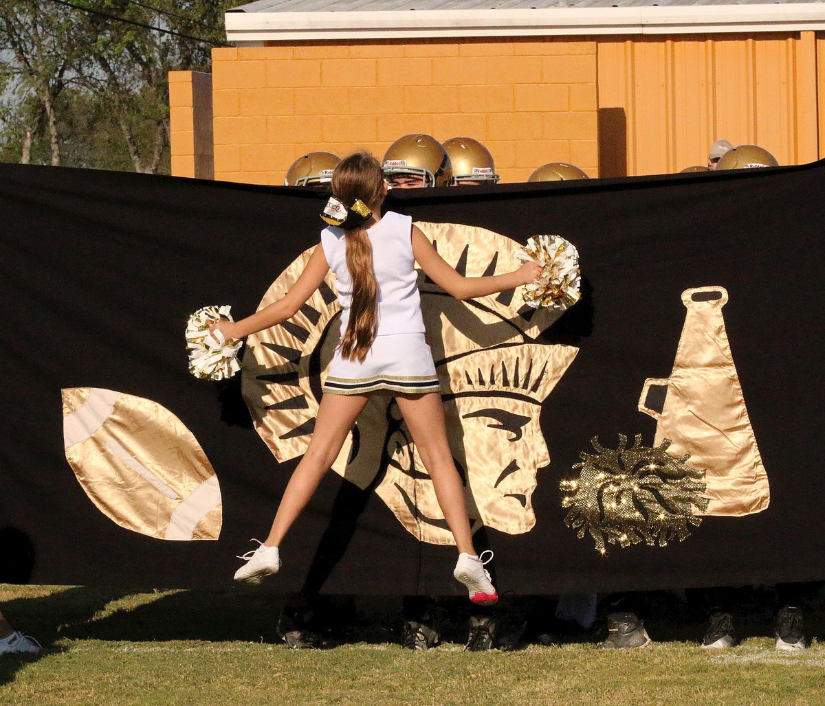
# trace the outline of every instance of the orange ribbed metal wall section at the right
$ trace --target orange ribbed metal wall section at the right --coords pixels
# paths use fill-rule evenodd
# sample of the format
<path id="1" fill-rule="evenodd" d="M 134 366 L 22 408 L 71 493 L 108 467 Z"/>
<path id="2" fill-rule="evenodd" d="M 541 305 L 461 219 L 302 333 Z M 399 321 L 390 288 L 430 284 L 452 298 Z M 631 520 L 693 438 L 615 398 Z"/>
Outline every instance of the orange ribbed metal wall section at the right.
<path id="1" fill-rule="evenodd" d="M 706 164 L 717 139 L 781 165 L 818 159 L 817 44 L 813 32 L 599 40 L 599 108 L 625 110 L 627 174 Z"/>

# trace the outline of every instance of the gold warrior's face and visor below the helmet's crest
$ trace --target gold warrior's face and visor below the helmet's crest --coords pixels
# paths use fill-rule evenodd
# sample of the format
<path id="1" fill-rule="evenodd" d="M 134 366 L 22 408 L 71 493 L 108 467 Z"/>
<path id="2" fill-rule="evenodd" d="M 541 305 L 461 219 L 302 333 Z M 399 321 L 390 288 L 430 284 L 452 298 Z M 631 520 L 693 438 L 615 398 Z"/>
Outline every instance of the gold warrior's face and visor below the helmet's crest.
<path id="1" fill-rule="evenodd" d="M 541 404 L 576 353 L 570 346 L 517 344 L 438 367 L 450 449 L 475 526 L 517 535 L 535 525 L 536 475 L 550 462 L 539 426 Z M 390 444 L 389 467 L 375 492 L 418 539 L 452 544 L 430 476 L 410 452 L 403 426 Z"/>

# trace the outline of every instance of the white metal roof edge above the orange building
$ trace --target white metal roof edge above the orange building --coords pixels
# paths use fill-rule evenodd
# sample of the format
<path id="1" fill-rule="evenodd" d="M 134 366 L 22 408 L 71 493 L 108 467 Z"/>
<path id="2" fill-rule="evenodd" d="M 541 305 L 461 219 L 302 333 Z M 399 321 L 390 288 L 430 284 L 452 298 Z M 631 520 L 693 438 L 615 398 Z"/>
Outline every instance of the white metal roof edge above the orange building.
<path id="1" fill-rule="evenodd" d="M 232 42 L 825 30 L 825 4 L 537 10 L 227 12 Z"/>

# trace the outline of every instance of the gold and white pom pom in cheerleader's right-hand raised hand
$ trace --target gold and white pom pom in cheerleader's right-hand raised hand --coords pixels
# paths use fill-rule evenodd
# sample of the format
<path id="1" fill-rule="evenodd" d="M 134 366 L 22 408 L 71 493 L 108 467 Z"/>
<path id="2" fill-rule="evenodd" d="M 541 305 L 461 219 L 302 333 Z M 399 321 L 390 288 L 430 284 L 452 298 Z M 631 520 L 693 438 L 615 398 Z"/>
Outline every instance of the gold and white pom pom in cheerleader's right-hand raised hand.
<path id="1" fill-rule="evenodd" d="M 524 285 L 524 303 L 537 309 L 564 311 L 581 297 L 578 250 L 561 236 L 532 236 L 516 253 L 518 259 L 537 260 L 543 266 L 538 279 Z"/>

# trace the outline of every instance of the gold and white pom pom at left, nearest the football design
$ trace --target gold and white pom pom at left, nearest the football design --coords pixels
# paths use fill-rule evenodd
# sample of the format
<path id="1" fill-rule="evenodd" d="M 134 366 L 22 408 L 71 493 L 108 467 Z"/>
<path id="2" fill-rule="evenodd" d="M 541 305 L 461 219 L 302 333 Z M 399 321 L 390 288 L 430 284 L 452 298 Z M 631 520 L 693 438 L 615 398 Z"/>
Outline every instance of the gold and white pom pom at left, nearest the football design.
<path id="1" fill-rule="evenodd" d="M 238 339 L 224 339 L 219 330 L 210 332 L 215 321 L 232 321 L 231 306 L 204 306 L 186 322 L 186 348 L 189 372 L 200 379 L 225 380 L 241 369 L 238 362 Z"/>

